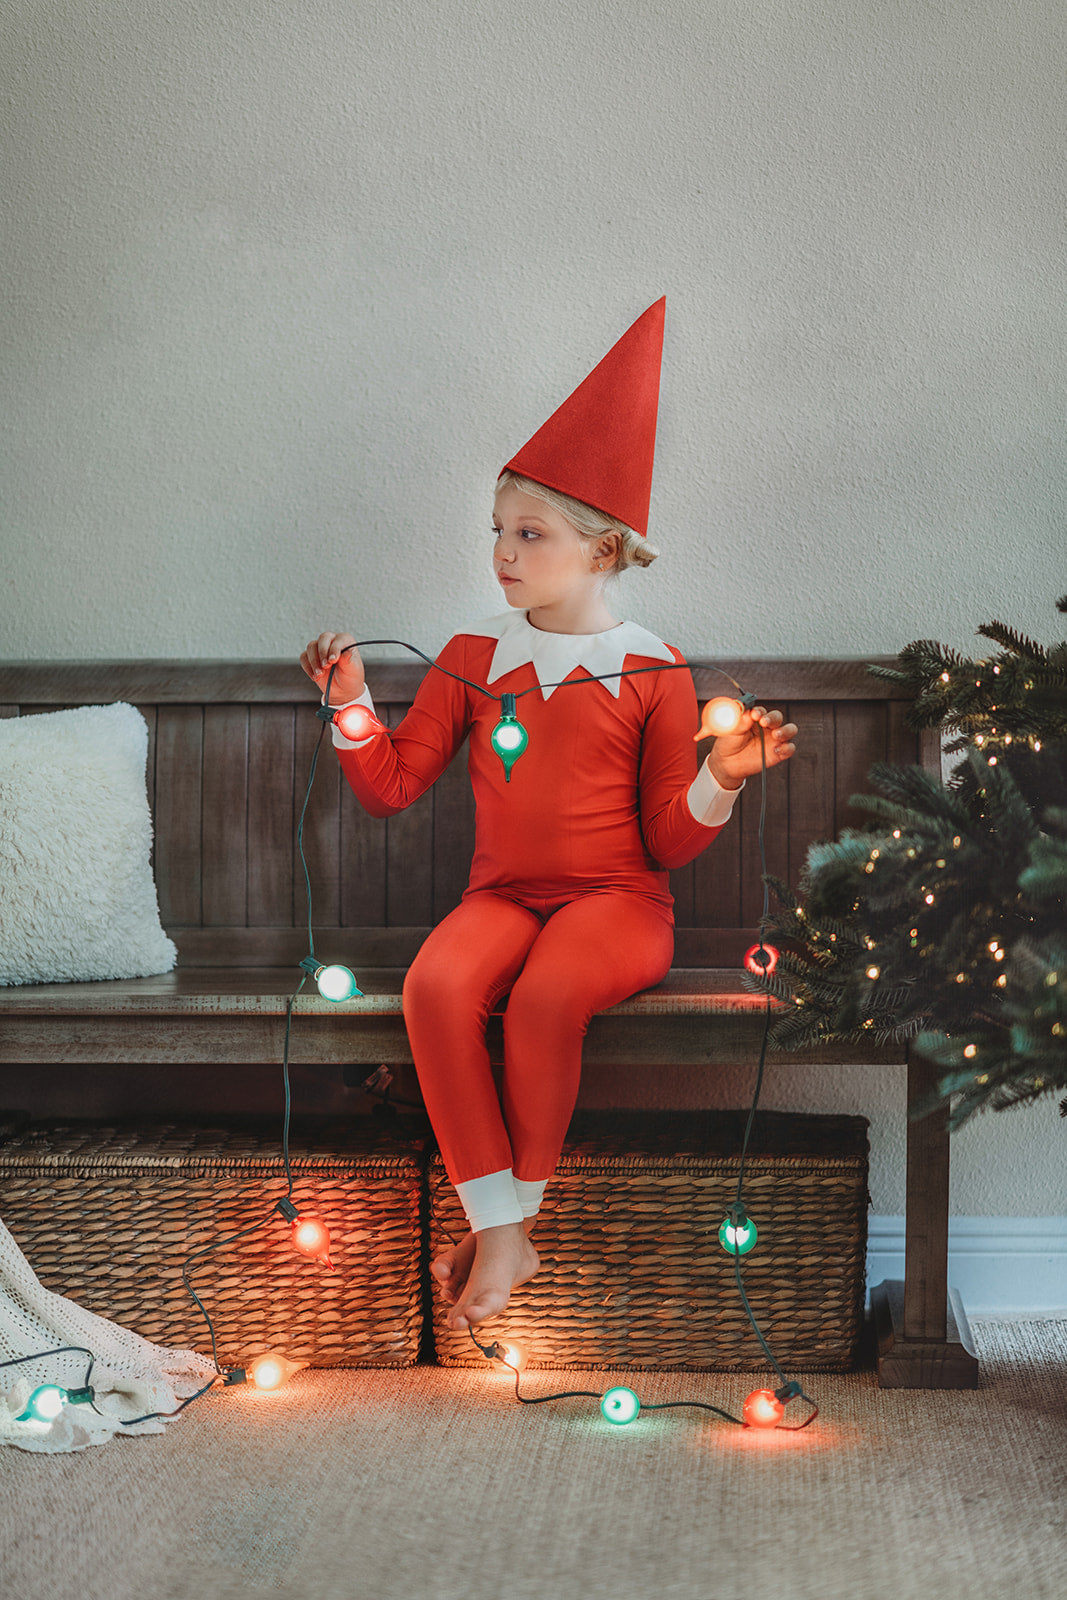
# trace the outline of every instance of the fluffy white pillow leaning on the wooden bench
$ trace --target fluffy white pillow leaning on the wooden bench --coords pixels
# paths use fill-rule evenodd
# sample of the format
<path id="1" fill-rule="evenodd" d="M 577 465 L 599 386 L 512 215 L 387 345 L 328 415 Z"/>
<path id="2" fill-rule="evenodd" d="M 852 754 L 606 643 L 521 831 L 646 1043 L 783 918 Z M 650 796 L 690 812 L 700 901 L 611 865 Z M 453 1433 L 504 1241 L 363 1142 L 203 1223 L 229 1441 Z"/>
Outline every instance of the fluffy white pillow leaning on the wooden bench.
<path id="1" fill-rule="evenodd" d="M 0 984 L 168 973 L 136 706 L 0 720 Z"/>

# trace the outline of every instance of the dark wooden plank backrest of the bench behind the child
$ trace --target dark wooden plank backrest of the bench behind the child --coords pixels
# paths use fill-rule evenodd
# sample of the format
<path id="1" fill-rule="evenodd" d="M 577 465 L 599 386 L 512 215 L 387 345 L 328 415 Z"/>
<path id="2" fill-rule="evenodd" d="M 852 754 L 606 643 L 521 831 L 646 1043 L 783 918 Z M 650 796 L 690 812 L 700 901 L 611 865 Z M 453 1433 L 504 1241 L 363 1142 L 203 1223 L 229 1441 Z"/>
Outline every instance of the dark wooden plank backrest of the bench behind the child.
<path id="1" fill-rule="evenodd" d="M 881 658 L 889 659 L 889 658 Z M 936 731 L 904 725 L 905 698 L 862 661 L 694 662 L 701 702 L 725 667 L 803 738 L 771 774 L 768 870 L 797 883 L 808 846 L 861 816 L 849 795 L 872 762 L 937 768 Z M 370 666 L 382 720 L 403 717 L 424 667 Z M 0 666 L 0 717 L 130 701 L 149 725 L 147 789 L 163 925 L 184 966 L 283 966 L 307 954 L 307 898 L 296 851 L 323 723 L 315 691 L 290 662 L 67 662 Z M 694 730 L 696 731 L 696 730 Z M 702 749 L 702 747 L 701 747 Z M 678 966 L 736 966 L 763 902 L 760 784 L 696 862 L 672 874 Z M 406 965 L 467 882 L 474 808 L 462 750 L 435 787 L 389 821 L 365 816 L 323 739 L 304 818 L 315 950 L 363 966 Z"/>

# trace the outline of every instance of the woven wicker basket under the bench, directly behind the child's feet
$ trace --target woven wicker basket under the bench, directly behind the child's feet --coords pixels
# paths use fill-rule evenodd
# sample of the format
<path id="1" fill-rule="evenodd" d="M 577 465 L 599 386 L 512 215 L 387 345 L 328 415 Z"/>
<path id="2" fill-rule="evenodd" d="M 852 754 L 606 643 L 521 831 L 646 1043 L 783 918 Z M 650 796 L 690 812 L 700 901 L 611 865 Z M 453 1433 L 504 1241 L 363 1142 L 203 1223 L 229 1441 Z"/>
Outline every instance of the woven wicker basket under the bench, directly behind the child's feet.
<path id="1" fill-rule="evenodd" d="M 718 1243 L 744 1120 L 664 1112 L 576 1122 L 534 1232 L 541 1272 L 480 1325 L 480 1342 L 514 1339 L 530 1366 L 768 1366 Z M 466 1222 L 438 1155 L 429 1184 L 437 1254 Z M 798 1371 L 848 1370 L 864 1315 L 865 1120 L 758 1117 L 744 1198 L 758 1243 L 742 1258 L 742 1280 L 776 1358 Z M 482 1363 L 470 1336 L 445 1326 L 445 1310 L 435 1299 L 438 1362 Z"/>

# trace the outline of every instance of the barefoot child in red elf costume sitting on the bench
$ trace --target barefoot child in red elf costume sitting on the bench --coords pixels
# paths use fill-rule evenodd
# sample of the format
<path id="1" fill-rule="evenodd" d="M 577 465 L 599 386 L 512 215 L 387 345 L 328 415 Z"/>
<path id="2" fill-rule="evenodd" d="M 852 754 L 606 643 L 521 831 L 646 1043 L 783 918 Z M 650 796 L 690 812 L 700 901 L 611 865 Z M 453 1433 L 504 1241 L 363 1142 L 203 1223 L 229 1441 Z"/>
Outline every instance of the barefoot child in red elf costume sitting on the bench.
<path id="1" fill-rule="evenodd" d="M 530 744 L 510 779 L 490 744 L 499 701 L 435 669 L 392 733 L 352 742 L 333 730 L 371 816 L 418 800 L 470 736 L 470 882 L 403 990 L 422 1098 L 470 1226 L 432 1264 L 453 1328 L 501 1312 L 537 1270 L 530 1230 L 577 1098 L 589 1021 L 661 982 L 672 962 L 669 869 L 720 832 L 761 768 L 763 739 L 768 766 L 795 749 L 797 728 L 755 707 L 697 773 L 688 672 L 592 682 L 683 659 L 608 603 L 608 582 L 656 555 L 645 534 L 662 325 L 659 301 L 507 464 L 493 570 L 510 610 L 438 656 L 494 694 L 534 691 L 517 706 Z M 352 642 L 323 632 L 301 666 L 325 688 L 336 664 L 331 704 L 371 706 Z M 498 1096 L 485 1029 L 504 995 Z"/>

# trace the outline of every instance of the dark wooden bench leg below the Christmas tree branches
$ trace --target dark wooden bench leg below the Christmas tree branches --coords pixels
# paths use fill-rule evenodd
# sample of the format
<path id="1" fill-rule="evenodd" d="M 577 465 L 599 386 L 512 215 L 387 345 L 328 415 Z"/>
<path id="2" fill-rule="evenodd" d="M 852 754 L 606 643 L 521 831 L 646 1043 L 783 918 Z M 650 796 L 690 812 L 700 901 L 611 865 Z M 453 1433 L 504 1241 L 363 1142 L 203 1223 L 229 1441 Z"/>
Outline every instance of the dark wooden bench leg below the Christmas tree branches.
<path id="1" fill-rule="evenodd" d="M 904 1283 L 870 1291 L 885 1389 L 977 1389 L 979 1381 L 963 1302 L 949 1290 L 949 1112 L 912 1117 L 937 1075 L 909 1050 Z"/>

